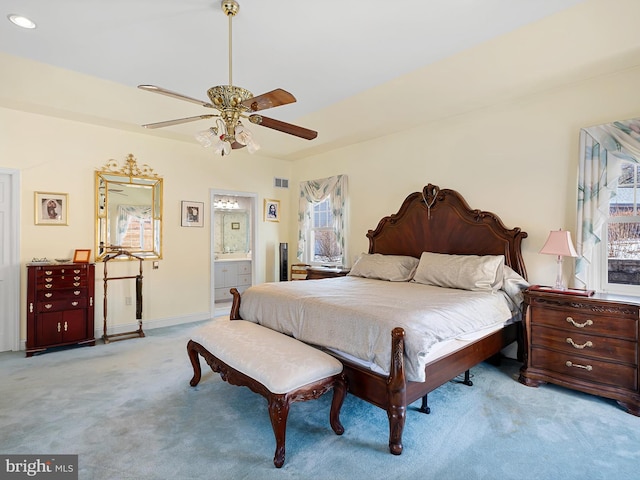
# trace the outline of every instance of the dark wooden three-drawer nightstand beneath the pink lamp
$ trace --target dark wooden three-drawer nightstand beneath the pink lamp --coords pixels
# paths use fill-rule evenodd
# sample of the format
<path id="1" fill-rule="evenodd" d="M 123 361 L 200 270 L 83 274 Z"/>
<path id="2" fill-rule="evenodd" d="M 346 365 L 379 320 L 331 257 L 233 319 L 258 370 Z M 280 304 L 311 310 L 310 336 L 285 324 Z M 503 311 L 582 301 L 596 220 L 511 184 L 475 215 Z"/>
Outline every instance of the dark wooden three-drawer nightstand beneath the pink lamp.
<path id="1" fill-rule="evenodd" d="M 525 294 L 525 362 L 520 382 L 554 383 L 614 399 L 640 416 L 640 298 L 590 297 L 529 288 Z"/>

